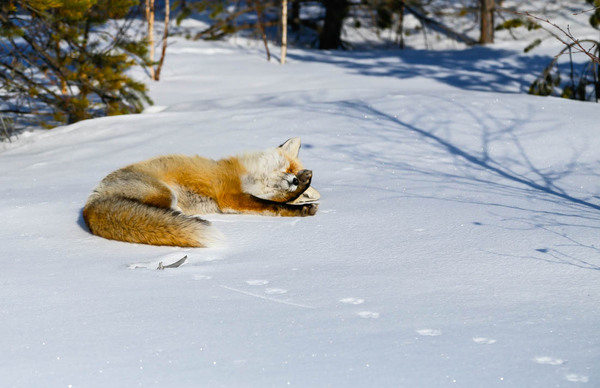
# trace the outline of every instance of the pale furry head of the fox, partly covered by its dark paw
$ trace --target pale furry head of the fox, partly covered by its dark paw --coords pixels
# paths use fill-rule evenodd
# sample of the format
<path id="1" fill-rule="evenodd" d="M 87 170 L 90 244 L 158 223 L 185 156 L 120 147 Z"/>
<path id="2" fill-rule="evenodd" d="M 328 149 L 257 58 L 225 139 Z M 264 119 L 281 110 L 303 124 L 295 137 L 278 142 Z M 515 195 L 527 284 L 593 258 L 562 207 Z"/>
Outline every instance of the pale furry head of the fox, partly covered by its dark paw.
<path id="1" fill-rule="evenodd" d="M 246 170 L 242 190 L 275 202 L 291 202 L 300 197 L 312 179 L 312 171 L 304 169 L 298 159 L 300 145 L 300 138 L 295 137 L 277 148 L 242 155 L 240 161 Z"/>

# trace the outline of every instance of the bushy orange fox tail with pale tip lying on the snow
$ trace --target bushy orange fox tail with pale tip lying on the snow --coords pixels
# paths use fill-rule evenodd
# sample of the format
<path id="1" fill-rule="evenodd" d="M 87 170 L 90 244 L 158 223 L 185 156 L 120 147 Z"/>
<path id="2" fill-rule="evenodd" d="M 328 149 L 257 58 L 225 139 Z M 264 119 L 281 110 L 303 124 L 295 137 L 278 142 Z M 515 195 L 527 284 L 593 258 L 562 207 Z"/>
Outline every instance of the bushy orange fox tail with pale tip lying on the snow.
<path id="1" fill-rule="evenodd" d="M 83 219 L 93 234 L 111 240 L 179 247 L 209 247 L 222 240 L 199 217 L 124 197 L 90 198 Z"/>

